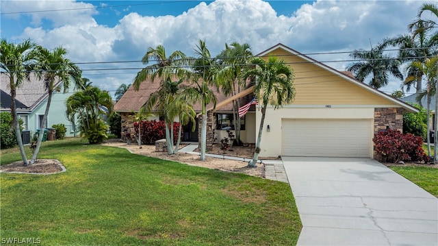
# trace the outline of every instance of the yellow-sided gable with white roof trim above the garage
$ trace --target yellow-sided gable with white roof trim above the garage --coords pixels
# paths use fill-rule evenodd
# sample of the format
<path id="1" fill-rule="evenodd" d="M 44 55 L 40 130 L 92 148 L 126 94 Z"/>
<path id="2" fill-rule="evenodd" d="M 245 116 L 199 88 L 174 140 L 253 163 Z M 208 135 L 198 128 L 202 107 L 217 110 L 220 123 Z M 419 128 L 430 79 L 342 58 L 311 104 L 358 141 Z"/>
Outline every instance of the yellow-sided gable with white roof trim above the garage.
<path id="1" fill-rule="evenodd" d="M 257 56 L 269 54 L 283 56 L 296 71 L 297 95 L 294 104 L 348 104 L 348 101 L 355 101 L 355 104 L 395 104 L 408 112 L 418 111 L 417 108 L 360 82 L 350 73 L 337 71 L 285 45 L 275 45 Z"/>

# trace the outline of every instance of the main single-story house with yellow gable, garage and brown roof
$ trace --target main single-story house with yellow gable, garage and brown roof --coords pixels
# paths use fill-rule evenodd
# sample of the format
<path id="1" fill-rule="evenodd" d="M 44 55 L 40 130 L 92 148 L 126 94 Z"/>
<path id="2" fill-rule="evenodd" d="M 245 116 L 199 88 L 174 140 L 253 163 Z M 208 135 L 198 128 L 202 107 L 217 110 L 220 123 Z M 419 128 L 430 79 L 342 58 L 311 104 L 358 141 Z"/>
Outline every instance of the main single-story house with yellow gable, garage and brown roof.
<path id="1" fill-rule="evenodd" d="M 374 134 L 388 128 L 402 131 L 403 112 L 418 112 L 417 108 L 359 82 L 350 73 L 337 71 L 285 45 L 278 44 L 257 54 L 266 58 L 269 55 L 280 56 L 294 70 L 296 97 L 292 104 L 277 110 L 268 106 L 261 158 L 373 158 Z M 139 91 L 129 88 L 114 110 L 127 114 L 130 110 L 138 110 L 158 86 L 158 82 L 144 82 Z M 219 140 L 220 136 L 226 136 L 224 130 L 217 128 L 219 120 L 223 119 L 220 115 L 231 112 L 231 101 L 220 93 L 217 95 L 218 104 L 229 102 L 227 106 L 209 111 L 207 129 L 216 129 Z M 244 105 L 253 96 L 242 92 L 240 99 Z M 200 109 L 195 110 L 199 112 Z M 127 119 L 127 116 L 123 118 L 123 125 L 129 125 Z M 259 106 L 253 106 L 241 121 L 245 129 L 241 140 L 255 143 L 261 121 Z M 207 136 L 207 140 L 211 139 Z"/>

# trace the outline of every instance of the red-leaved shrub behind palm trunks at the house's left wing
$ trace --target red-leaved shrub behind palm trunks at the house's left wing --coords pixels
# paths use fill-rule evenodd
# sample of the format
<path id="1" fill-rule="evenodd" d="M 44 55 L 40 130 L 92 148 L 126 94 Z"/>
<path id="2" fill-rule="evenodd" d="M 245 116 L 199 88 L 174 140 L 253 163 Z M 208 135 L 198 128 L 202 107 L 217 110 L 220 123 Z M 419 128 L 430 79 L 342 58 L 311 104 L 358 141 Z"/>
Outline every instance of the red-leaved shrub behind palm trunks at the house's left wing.
<path id="1" fill-rule="evenodd" d="M 134 129 L 138 132 L 138 127 L 134 125 Z M 140 128 L 142 134 L 143 145 L 153 145 L 156 140 L 166 138 L 166 123 L 164 121 L 142 121 Z M 173 123 L 173 141 L 174 144 L 178 140 L 179 123 Z M 183 132 L 181 131 L 181 135 Z"/>

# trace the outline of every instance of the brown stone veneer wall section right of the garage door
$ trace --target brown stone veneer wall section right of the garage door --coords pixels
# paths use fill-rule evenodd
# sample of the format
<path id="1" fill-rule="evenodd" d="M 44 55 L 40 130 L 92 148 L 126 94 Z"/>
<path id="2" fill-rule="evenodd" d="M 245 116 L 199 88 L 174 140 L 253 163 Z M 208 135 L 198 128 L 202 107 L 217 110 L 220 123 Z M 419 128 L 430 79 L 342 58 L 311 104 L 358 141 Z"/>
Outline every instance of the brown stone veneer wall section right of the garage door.
<path id="1" fill-rule="evenodd" d="M 374 108 L 374 134 L 388 127 L 403 132 L 403 108 Z"/>

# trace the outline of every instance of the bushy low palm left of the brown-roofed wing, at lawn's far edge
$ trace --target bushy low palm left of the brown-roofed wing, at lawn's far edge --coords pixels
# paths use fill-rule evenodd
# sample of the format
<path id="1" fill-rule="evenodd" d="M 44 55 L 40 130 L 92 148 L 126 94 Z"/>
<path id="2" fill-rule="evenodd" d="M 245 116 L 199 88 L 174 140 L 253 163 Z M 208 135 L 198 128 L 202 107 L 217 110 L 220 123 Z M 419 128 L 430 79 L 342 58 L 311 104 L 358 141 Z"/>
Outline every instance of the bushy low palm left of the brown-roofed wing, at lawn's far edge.
<path id="1" fill-rule="evenodd" d="M 66 101 L 68 119 L 74 124 L 79 119 L 79 131 L 90 144 L 101 143 L 107 138 L 108 127 L 103 115 L 112 111 L 112 98 L 106 90 L 89 86 L 68 97 Z"/>

